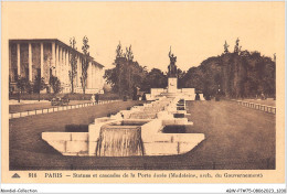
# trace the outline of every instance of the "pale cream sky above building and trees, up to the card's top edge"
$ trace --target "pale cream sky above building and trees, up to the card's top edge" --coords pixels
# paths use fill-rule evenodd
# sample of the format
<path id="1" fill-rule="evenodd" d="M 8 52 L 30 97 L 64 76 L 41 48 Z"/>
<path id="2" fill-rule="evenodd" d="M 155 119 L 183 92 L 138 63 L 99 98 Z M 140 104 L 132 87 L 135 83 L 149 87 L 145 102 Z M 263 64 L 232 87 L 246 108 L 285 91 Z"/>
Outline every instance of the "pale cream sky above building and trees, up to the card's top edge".
<path id="1" fill-rule="evenodd" d="M 91 55 L 113 67 L 120 42 L 131 45 L 135 61 L 167 71 L 170 46 L 183 71 L 233 51 L 276 53 L 283 2 L 2 2 L 2 41 L 9 39 L 89 40 Z"/>

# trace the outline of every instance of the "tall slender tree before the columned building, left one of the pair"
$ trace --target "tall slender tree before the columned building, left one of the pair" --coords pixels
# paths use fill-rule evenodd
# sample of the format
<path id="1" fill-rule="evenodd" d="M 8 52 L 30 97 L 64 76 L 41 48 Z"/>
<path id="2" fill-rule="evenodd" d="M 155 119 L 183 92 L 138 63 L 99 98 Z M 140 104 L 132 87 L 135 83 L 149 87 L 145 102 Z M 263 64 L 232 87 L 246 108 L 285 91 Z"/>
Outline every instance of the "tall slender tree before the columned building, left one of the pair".
<path id="1" fill-rule="evenodd" d="M 68 71 L 68 78 L 71 82 L 71 93 L 74 93 L 74 82 L 77 75 L 77 56 L 76 56 L 76 40 L 75 37 L 70 39 L 70 46 L 73 48 L 71 52 L 71 60 L 70 60 L 70 65 L 71 65 L 71 69 Z"/>

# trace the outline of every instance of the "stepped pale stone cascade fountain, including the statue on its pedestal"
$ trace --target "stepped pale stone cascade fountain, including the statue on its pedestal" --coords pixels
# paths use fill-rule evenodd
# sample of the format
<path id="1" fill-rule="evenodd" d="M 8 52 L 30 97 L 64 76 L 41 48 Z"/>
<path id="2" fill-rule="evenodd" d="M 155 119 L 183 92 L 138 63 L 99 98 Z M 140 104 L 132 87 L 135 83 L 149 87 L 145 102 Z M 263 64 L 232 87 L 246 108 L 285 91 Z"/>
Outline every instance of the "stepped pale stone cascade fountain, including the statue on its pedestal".
<path id="1" fill-rule="evenodd" d="M 151 103 L 96 118 L 87 132 L 42 132 L 42 139 L 63 155 L 173 155 L 191 151 L 205 138 L 203 133 L 185 133 L 185 127 L 193 125 L 184 117 L 185 100 L 194 100 L 195 93 L 194 88 L 177 88 L 177 57 L 171 51 L 169 56 L 168 89 L 151 88 Z"/>

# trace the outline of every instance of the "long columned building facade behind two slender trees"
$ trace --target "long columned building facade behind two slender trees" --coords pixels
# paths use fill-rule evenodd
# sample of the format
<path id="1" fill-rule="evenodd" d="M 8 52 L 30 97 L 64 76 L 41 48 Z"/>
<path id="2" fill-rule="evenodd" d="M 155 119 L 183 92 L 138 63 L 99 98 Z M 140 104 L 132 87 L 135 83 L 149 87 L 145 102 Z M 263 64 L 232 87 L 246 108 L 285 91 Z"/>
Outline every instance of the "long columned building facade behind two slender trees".
<path id="1" fill-rule="evenodd" d="M 84 54 L 72 48 L 57 39 L 10 40 L 9 41 L 9 82 L 17 89 L 17 76 L 34 82 L 36 76 L 49 84 L 50 77 L 56 76 L 61 82 L 62 93 L 71 93 L 71 55 L 76 54 L 77 71 L 74 78 L 74 93 L 83 93 L 82 62 Z M 86 94 L 103 93 L 104 66 L 89 56 Z"/>

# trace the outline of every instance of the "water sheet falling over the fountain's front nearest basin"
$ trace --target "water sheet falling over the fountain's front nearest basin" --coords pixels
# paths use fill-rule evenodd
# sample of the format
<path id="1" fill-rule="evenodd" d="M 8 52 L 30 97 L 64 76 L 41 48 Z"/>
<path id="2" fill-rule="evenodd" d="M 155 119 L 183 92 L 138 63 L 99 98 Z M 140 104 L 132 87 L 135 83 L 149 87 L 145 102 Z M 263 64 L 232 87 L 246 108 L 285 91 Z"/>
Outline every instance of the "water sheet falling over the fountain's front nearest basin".
<path id="1" fill-rule="evenodd" d="M 144 155 L 140 127 L 102 127 L 96 148 L 97 157 Z"/>

